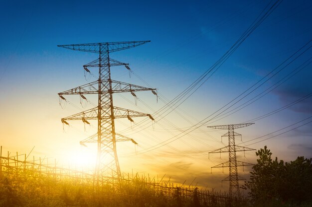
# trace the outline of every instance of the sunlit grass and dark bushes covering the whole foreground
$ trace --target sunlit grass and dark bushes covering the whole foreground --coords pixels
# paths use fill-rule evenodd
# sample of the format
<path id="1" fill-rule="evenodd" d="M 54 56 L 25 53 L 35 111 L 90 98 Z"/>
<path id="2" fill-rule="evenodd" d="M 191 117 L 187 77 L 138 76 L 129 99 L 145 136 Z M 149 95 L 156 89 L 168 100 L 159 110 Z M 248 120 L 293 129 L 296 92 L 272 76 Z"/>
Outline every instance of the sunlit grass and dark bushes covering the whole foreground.
<path id="1" fill-rule="evenodd" d="M 75 179 L 58 180 L 40 172 L 34 175 L 33 170 L 3 168 L 0 207 L 312 207 L 312 159 L 298 157 L 289 163 L 272 160 L 266 146 L 256 154 L 257 164 L 243 186 L 249 197 L 241 201 L 204 194 L 198 188 L 187 193 L 172 187 L 168 193 L 140 177 L 115 188 L 95 188 Z"/>

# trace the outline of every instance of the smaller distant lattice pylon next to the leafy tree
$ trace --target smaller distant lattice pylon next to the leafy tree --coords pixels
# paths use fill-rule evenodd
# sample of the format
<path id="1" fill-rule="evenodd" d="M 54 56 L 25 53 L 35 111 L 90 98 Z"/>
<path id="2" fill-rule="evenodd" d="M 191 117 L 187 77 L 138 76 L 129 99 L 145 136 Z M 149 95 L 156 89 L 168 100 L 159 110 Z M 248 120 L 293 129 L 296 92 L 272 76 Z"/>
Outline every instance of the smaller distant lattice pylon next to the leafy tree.
<path id="1" fill-rule="evenodd" d="M 235 145 L 235 136 L 241 136 L 241 135 L 238 133 L 235 133 L 234 129 L 247 127 L 247 126 L 250 126 L 252 124 L 254 124 L 254 123 L 209 126 L 210 128 L 213 128 L 213 129 L 228 130 L 228 133 L 226 133 L 222 137 L 228 137 L 229 144 L 225 147 L 222 147 L 222 148 L 219 148 L 219 149 L 216 149 L 216 150 L 209 152 L 208 156 L 210 153 L 221 153 L 221 152 L 228 152 L 229 153 L 229 161 L 215 165 L 211 168 L 217 168 L 217 167 L 222 167 L 222 168 L 228 167 L 229 168 L 229 176 L 226 177 L 222 181 L 229 181 L 230 182 L 230 189 L 229 189 L 230 198 L 234 198 L 234 197 L 236 197 L 238 199 L 241 198 L 238 181 L 239 180 L 245 180 L 245 179 L 238 176 L 237 167 L 238 166 L 253 165 L 251 163 L 236 160 L 236 152 L 237 151 L 244 151 L 245 152 L 245 151 L 250 151 L 250 150 L 256 150 L 256 149 L 252 149 L 252 148 L 248 148 L 248 147 L 244 147 L 244 146 Z"/>

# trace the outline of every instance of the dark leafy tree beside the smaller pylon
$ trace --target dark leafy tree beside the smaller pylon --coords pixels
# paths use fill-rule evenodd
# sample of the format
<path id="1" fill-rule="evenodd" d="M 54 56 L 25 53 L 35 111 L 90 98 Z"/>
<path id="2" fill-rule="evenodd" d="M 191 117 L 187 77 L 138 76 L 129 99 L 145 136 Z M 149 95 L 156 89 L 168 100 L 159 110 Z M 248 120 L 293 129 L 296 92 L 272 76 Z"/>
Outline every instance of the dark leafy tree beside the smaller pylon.
<path id="1" fill-rule="evenodd" d="M 250 172 L 250 181 L 243 188 L 255 206 L 301 205 L 312 202 L 312 158 L 298 157 L 284 163 L 277 157 L 272 160 L 272 152 L 267 146 L 256 152 L 257 164 Z"/>

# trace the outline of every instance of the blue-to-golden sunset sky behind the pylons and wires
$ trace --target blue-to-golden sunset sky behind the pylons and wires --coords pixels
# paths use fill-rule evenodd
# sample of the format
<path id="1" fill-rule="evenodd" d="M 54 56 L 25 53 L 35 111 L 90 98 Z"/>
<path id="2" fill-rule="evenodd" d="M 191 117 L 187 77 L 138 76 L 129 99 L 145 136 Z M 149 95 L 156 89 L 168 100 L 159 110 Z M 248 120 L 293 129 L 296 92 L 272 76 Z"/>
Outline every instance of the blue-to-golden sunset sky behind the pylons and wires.
<path id="1" fill-rule="evenodd" d="M 112 58 L 130 63 L 134 73 L 130 78 L 127 69 L 114 68 L 112 78 L 156 87 L 161 95 L 158 102 L 149 91 L 137 93 L 140 98 L 137 105 L 131 94 L 114 94 L 116 106 L 155 114 L 165 105 L 163 97 L 173 99 L 209 69 L 268 3 L 260 0 L 179 0 L 170 3 L 2 0 L 0 144 L 3 150 L 29 153 L 35 146 L 33 155 L 56 158 L 60 165 L 78 165 L 77 159 L 91 164 L 91 160 L 95 160 L 92 157 L 95 147 L 82 147 L 79 141 L 96 132 L 96 123 L 84 126 L 82 122 L 70 122 L 71 126 L 63 129 L 60 122 L 63 117 L 93 106 L 87 104 L 83 109 L 79 97 L 70 96 L 66 97 L 70 103 L 62 109 L 57 93 L 94 81 L 93 76 L 88 81 L 85 79 L 82 66 L 97 56 L 57 45 L 151 40 L 143 46 L 114 53 Z M 196 178 L 198 185 L 227 190 L 225 185 L 220 188 L 220 180 L 227 176 L 227 169 L 224 174 L 222 169 L 214 169 L 210 174 L 210 167 L 225 162 L 227 154 L 222 154 L 221 158 L 218 154 L 211 155 L 210 159 L 207 156 L 208 151 L 226 144 L 226 140 L 220 142 L 226 131 L 215 131 L 206 126 L 243 123 L 312 93 L 311 64 L 242 110 L 213 120 L 167 145 L 141 152 L 213 114 L 309 42 L 312 37 L 311 11 L 310 0 L 284 0 L 226 63 L 174 112 L 156 120 L 153 125 L 146 122 L 147 128 L 140 125 L 144 118 L 136 118 L 136 124 L 118 120 L 116 132 L 139 143 L 136 147 L 132 143 L 118 143 L 122 171 L 133 169 L 159 176 L 166 173 L 175 182 L 191 182 Z M 310 63 L 311 54 L 311 49 L 307 50 L 238 105 L 278 83 L 301 64 Z M 92 72 L 97 74 L 96 69 Z M 96 97 L 87 98 L 96 103 Z M 237 144 L 255 149 L 267 145 L 273 156 L 285 161 L 301 155 L 312 157 L 311 116 L 310 97 L 255 121 L 252 126 L 238 129 L 243 141 L 237 139 Z M 293 125 L 295 123 L 298 124 Z M 299 127 L 303 124 L 306 125 Z M 293 126 L 286 128 L 290 125 Z M 299 128 L 271 138 L 296 127 Z M 273 133 L 278 130 L 281 131 Z M 270 135 L 265 136 L 267 134 Z M 269 139 L 264 140 L 266 138 Z M 257 141 L 261 142 L 255 143 Z M 238 153 L 238 159 L 256 162 L 254 151 L 246 152 L 246 157 Z M 239 170 L 241 175 L 249 171 Z"/>

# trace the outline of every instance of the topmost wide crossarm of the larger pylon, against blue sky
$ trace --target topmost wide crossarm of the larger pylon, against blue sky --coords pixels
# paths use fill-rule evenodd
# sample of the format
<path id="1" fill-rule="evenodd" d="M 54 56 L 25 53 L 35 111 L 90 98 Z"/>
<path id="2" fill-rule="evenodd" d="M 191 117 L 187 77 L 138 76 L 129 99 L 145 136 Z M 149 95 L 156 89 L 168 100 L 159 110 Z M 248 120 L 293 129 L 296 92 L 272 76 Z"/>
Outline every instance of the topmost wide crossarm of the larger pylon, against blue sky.
<path id="1" fill-rule="evenodd" d="M 58 45 L 57 47 L 89 53 L 102 53 L 102 52 L 112 53 L 120 50 L 137 47 L 148 42 L 151 41 L 103 42 L 89 44 Z"/>

